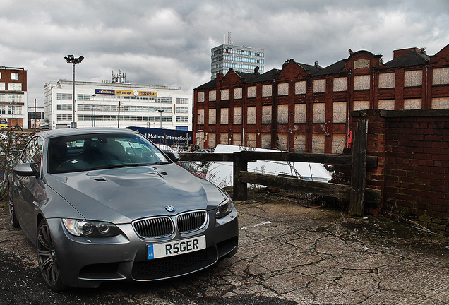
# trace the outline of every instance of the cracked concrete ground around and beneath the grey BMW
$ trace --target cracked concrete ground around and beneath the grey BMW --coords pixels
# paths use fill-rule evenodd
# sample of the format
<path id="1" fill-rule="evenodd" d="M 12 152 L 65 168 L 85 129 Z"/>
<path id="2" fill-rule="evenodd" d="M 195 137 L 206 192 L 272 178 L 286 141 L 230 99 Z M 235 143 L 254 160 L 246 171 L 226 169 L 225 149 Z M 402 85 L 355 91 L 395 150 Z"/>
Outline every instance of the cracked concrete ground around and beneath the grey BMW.
<path id="1" fill-rule="evenodd" d="M 279 198 L 236 205 L 240 234 L 234 257 L 176 280 L 107 283 L 61 294 L 44 287 L 35 250 L 20 229 L 8 224 L 4 206 L 0 303 L 449 304 L 445 237 L 418 239 L 419 232 L 404 226 L 409 236 L 393 237 L 391 231 L 398 229 L 385 227 L 390 220 L 348 217 Z"/>

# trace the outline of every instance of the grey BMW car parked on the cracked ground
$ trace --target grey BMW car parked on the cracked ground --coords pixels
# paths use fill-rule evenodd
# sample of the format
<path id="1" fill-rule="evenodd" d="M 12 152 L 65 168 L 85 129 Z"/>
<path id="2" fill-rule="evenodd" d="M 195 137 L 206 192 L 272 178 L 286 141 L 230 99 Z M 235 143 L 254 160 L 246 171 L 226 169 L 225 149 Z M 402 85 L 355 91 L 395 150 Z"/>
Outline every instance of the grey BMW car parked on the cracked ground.
<path id="1" fill-rule="evenodd" d="M 8 178 L 13 227 L 35 244 L 46 285 L 98 287 L 193 273 L 237 251 L 229 196 L 136 131 L 42 131 Z"/>

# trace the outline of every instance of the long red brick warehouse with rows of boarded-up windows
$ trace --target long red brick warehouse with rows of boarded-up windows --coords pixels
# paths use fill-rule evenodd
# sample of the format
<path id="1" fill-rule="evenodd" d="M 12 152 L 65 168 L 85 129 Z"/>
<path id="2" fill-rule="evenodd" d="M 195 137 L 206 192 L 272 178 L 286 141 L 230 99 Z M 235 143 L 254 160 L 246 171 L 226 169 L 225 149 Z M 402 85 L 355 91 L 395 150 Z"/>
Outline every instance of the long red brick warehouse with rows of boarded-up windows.
<path id="1" fill-rule="evenodd" d="M 263 74 L 218 73 L 193 90 L 196 143 L 342 153 L 353 110 L 449 108 L 449 45 L 432 56 L 417 48 L 393 55 L 384 64 L 382 55 L 349 50 L 325 68 L 290 59 Z"/>

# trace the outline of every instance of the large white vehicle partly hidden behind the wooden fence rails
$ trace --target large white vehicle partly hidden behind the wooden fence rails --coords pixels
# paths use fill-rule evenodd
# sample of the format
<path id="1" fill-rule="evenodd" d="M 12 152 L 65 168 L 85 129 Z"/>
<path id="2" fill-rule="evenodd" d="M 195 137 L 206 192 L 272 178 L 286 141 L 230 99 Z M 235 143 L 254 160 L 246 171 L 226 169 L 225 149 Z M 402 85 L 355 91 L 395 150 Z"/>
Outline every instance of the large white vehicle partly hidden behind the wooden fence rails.
<path id="1" fill-rule="evenodd" d="M 240 151 L 256 152 L 281 152 L 264 148 L 248 148 L 236 145 L 219 144 L 214 153 L 233 153 Z M 234 183 L 232 174 L 232 162 L 210 162 L 206 179 L 217 186 L 232 186 Z M 298 177 L 300 179 L 328 182 L 332 175 L 320 163 L 310 162 L 285 162 L 285 161 L 261 161 L 248 162 L 248 172 L 271 174 L 282 177 Z"/>

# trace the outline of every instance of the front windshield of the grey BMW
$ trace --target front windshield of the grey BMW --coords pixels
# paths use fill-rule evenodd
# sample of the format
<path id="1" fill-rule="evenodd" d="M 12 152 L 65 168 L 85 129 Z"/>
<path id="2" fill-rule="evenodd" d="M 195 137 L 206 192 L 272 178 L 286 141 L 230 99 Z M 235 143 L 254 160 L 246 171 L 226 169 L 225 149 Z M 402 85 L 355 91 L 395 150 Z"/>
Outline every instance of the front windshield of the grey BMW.
<path id="1" fill-rule="evenodd" d="M 150 141 L 133 133 L 51 138 L 48 152 L 51 174 L 170 162 Z"/>

